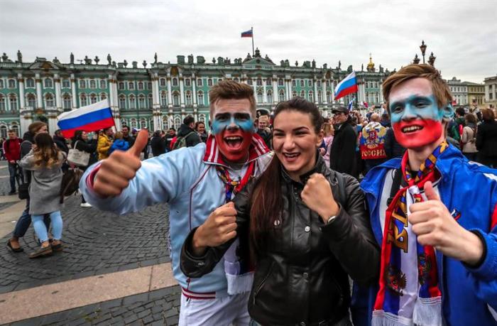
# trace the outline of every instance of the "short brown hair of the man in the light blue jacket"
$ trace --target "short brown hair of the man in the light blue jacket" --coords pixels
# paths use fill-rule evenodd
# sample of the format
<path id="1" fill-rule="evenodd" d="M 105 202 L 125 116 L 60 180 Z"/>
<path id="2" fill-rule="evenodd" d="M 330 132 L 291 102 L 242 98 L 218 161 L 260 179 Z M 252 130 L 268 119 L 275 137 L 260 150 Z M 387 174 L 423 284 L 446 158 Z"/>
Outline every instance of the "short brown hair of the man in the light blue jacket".
<path id="1" fill-rule="evenodd" d="M 211 121 L 214 119 L 214 105 L 219 99 L 248 99 L 252 118 L 256 118 L 256 99 L 253 88 L 234 80 L 222 80 L 209 90 L 209 107 Z"/>

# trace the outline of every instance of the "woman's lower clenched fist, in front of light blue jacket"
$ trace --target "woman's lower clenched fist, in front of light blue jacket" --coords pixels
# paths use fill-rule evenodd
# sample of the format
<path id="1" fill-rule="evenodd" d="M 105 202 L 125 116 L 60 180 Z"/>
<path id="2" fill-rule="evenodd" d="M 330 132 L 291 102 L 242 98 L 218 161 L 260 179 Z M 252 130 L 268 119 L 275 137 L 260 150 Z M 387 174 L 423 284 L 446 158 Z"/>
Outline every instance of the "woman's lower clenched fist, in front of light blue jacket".
<path id="1" fill-rule="evenodd" d="M 220 246 L 236 237 L 236 210 L 233 202 L 218 207 L 193 235 L 192 249 L 197 256 L 202 256 L 205 249 Z"/>

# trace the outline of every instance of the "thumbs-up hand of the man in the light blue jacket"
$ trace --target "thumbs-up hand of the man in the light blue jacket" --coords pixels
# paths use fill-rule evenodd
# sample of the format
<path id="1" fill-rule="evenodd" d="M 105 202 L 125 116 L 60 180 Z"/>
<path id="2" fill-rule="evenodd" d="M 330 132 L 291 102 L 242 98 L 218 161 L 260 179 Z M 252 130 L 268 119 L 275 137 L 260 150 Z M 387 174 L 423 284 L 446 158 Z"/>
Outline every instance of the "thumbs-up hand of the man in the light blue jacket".
<path id="1" fill-rule="evenodd" d="M 109 158 L 102 161 L 95 175 L 94 192 L 102 197 L 121 194 L 141 167 L 140 153 L 147 145 L 147 141 L 148 131 L 142 130 L 136 136 L 133 147 L 128 151 L 113 151 Z"/>

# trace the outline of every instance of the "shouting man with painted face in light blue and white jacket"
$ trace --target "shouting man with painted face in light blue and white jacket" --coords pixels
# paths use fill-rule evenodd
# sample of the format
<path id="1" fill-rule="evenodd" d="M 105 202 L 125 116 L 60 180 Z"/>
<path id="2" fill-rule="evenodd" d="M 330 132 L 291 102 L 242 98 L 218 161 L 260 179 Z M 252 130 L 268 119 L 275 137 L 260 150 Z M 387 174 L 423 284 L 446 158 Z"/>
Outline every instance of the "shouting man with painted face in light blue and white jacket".
<path id="1" fill-rule="evenodd" d="M 180 325 L 248 325 L 252 275 L 236 255 L 237 244 L 202 278 L 187 278 L 180 270 L 187 234 L 217 207 L 232 205 L 226 203 L 251 178 L 261 175 L 271 160 L 268 148 L 253 133 L 256 104 L 249 85 L 219 82 L 209 99 L 214 120 L 207 143 L 141 162 L 148 137 L 148 131 L 141 131 L 129 151 L 115 151 L 90 167 L 80 188 L 94 207 L 117 214 L 168 202 L 170 256 L 182 287 Z"/>

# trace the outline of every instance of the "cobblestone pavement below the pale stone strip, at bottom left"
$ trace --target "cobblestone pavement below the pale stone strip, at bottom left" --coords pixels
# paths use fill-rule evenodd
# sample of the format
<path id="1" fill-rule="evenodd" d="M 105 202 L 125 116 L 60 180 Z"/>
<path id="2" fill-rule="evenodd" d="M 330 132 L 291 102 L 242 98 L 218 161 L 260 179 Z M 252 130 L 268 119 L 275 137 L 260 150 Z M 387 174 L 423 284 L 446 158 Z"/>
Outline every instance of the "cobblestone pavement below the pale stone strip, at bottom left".
<path id="1" fill-rule="evenodd" d="M 179 286 L 171 286 L 10 325 L 178 325 L 180 292 Z"/>

